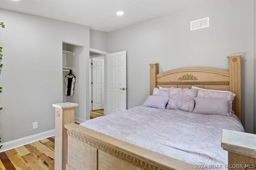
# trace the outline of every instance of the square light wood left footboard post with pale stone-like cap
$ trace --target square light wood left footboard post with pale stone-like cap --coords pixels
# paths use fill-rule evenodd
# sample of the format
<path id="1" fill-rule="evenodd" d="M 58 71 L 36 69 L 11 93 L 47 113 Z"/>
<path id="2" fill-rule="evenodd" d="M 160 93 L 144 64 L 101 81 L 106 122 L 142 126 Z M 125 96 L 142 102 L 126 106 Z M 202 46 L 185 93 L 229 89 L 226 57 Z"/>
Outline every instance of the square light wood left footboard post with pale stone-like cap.
<path id="1" fill-rule="evenodd" d="M 53 104 L 55 107 L 55 155 L 54 169 L 66 170 L 68 160 L 68 135 L 64 125 L 75 123 L 74 113 L 76 103 Z"/>

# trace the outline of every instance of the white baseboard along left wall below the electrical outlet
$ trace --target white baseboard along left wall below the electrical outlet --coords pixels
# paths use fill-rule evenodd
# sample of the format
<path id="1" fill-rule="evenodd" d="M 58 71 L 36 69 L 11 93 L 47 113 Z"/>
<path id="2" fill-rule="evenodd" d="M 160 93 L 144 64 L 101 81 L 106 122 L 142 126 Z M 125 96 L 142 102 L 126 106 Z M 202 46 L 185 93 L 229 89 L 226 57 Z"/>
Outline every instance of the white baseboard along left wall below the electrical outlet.
<path id="1" fill-rule="evenodd" d="M 31 135 L 28 137 L 23 137 L 20 139 L 15 139 L 13 141 L 5 142 L 5 143 L 0 143 L 0 145 L 3 145 L 2 148 L 0 149 L 0 153 L 4 152 L 6 150 L 14 149 L 23 145 L 27 145 L 36 141 L 40 141 L 42 139 L 46 139 L 48 137 L 52 137 L 55 135 L 55 129 L 52 129 L 50 131 L 45 131 L 42 133 L 38 133 L 35 135 Z"/>

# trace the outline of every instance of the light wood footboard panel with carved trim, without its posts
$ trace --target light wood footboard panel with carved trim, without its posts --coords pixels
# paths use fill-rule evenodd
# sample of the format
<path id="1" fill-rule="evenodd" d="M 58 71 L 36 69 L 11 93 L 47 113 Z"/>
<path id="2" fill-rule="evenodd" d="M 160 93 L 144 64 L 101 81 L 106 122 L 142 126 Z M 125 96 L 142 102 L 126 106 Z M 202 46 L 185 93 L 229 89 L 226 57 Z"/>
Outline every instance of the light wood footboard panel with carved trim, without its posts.
<path id="1" fill-rule="evenodd" d="M 94 130 L 65 125 L 68 133 L 67 170 L 172 170 L 194 169 L 194 165 L 170 158 Z"/>

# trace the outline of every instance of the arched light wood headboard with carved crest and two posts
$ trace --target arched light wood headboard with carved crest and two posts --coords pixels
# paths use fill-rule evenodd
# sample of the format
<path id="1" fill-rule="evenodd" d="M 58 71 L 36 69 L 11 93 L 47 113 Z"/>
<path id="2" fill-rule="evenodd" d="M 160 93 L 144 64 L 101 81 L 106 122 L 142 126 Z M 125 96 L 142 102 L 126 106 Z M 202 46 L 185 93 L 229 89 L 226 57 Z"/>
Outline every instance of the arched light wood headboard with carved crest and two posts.
<path id="1" fill-rule="evenodd" d="M 241 120 L 241 56 L 229 55 L 229 70 L 218 70 L 203 67 L 188 67 L 168 70 L 158 74 L 158 63 L 150 65 L 150 95 L 153 89 L 176 87 L 191 88 L 197 86 L 205 89 L 228 90 L 236 94 L 233 101 L 233 111 Z"/>

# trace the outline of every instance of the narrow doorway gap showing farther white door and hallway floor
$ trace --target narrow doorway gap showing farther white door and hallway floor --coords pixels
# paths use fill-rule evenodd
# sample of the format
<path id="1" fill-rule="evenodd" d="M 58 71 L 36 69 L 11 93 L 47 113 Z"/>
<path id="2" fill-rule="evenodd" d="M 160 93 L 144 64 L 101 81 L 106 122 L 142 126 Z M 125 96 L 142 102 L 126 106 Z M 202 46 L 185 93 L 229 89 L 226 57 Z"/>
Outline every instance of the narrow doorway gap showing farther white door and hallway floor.
<path id="1" fill-rule="evenodd" d="M 106 54 L 104 51 L 90 49 L 90 119 L 104 115 Z"/>

